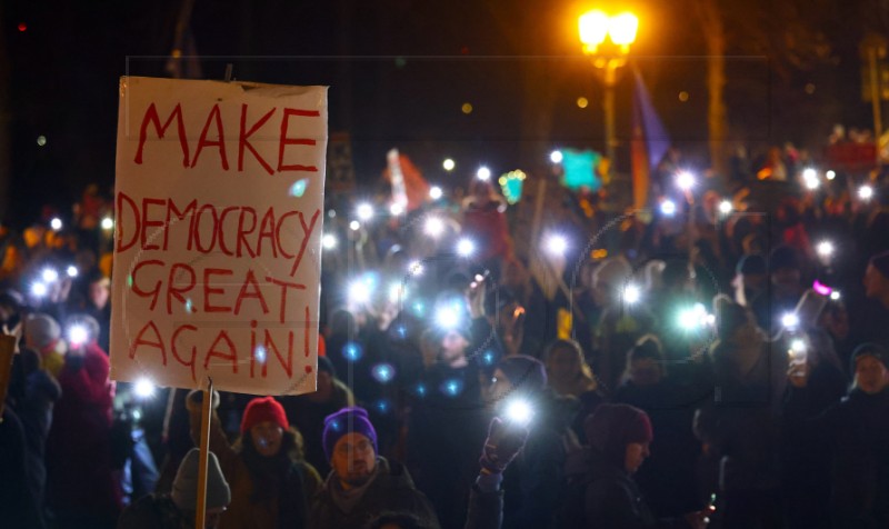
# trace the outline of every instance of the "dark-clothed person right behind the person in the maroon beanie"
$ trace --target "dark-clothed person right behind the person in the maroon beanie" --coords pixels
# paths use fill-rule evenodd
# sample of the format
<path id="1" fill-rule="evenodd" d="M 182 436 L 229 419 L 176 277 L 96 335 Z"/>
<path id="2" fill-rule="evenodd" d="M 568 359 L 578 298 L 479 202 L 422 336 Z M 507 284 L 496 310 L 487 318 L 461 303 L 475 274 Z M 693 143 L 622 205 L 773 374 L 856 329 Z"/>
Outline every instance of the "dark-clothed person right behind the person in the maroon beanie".
<path id="1" fill-rule="evenodd" d="M 643 410 L 658 431 L 651 457 L 635 477 L 657 518 L 681 517 L 703 507 L 696 475 L 700 442 L 691 429 L 695 389 L 668 377 L 656 336 L 640 338 L 627 353 L 623 383 L 613 402 Z"/>

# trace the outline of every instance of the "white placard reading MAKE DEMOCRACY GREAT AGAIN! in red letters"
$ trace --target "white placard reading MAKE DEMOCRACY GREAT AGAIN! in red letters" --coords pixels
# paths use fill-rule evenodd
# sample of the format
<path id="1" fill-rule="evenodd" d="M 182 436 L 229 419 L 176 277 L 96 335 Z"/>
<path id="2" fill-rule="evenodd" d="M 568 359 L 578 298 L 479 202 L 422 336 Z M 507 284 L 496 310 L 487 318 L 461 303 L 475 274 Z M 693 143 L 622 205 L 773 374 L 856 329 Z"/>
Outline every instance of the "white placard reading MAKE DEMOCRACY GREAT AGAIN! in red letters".
<path id="1" fill-rule="evenodd" d="M 327 88 L 122 78 L 111 377 L 316 387 Z"/>

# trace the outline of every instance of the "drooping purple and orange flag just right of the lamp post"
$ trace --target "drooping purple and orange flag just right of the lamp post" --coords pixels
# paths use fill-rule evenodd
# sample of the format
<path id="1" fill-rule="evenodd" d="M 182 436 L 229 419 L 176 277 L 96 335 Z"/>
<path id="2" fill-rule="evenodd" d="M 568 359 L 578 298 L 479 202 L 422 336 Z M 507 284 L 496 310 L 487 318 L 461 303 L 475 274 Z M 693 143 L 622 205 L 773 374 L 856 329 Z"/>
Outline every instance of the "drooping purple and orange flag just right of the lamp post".
<path id="1" fill-rule="evenodd" d="M 651 96 L 639 70 L 633 68 L 636 90 L 632 98 L 632 202 L 637 209 L 648 202 L 649 176 L 670 148 L 670 137 L 663 128 Z"/>

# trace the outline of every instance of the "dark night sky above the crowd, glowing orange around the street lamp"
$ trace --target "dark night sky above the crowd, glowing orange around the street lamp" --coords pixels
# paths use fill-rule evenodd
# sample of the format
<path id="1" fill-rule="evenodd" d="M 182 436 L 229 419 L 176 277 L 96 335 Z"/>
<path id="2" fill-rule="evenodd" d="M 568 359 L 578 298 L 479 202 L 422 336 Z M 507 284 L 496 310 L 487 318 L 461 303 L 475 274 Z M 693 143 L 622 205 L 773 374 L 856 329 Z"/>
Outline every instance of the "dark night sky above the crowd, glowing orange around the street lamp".
<path id="1" fill-rule="evenodd" d="M 639 14 L 632 54 L 671 139 L 705 167 L 707 61 L 691 3 L 620 7 Z M 788 2 L 799 9 L 780 12 L 758 0 L 749 12 L 739 11 L 747 3 L 718 3 L 730 17 L 732 141 L 753 152 L 788 140 L 817 148 L 835 122 L 871 126 L 870 107 L 860 99 L 857 47 L 867 29 L 886 30 L 885 10 L 875 11 L 880 2 Z M 351 134 L 359 182 L 379 178 L 386 151 L 398 147 L 428 179 L 460 184 L 481 163 L 533 174 L 546 170 L 546 153 L 555 147 L 601 149 L 601 88 L 577 39 L 577 16 L 590 7 L 196 0 L 190 28 L 202 78 L 222 79 L 231 62 L 240 80 L 330 86 L 330 131 Z M 9 70 L 11 112 L 7 221 L 23 224 L 37 220 L 43 203 L 64 213 L 89 182 L 110 193 L 118 79 L 167 77 L 179 2 L 7 0 L 2 9 L 0 60 Z M 782 47 L 793 39 L 771 28 L 798 27 L 823 37 L 829 57 L 786 60 Z M 815 87 L 811 93 L 807 84 Z M 625 72 L 617 100 L 621 139 L 630 130 L 631 88 Z M 685 102 L 682 91 L 689 94 Z M 586 109 L 578 108 L 579 97 L 589 99 Z M 461 112 L 466 102 L 470 114 Z M 43 147 L 37 143 L 41 134 Z M 458 162 L 450 177 L 440 169 L 446 157 Z M 619 169 L 629 164 L 619 160 Z"/>

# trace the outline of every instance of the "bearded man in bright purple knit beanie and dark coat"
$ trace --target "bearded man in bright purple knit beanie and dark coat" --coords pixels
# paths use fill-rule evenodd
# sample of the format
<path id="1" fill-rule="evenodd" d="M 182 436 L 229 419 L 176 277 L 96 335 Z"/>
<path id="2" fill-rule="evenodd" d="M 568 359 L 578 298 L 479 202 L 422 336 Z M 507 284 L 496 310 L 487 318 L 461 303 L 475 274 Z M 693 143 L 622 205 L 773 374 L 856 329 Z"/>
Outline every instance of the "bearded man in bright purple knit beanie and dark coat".
<path id="1" fill-rule="evenodd" d="M 357 528 L 387 511 L 439 527 L 408 470 L 378 455 L 377 431 L 363 408 L 343 408 L 324 419 L 321 442 L 332 470 L 312 501 L 307 527 Z"/>

